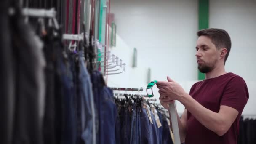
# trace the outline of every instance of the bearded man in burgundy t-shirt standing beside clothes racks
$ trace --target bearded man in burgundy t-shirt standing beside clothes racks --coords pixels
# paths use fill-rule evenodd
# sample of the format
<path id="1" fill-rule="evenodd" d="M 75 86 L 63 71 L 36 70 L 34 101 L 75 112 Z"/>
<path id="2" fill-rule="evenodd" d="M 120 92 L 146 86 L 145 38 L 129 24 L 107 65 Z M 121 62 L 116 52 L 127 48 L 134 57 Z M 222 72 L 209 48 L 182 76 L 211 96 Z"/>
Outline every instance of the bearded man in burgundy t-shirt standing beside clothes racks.
<path id="1" fill-rule="evenodd" d="M 225 71 L 231 49 L 229 34 L 223 29 L 203 29 L 197 35 L 195 56 L 205 80 L 195 83 L 187 94 L 167 77 L 168 82 L 157 83 L 160 102 L 165 109 L 174 100 L 186 107 L 178 118 L 181 142 L 237 144 L 239 119 L 249 94 L 242 77 Z"/>

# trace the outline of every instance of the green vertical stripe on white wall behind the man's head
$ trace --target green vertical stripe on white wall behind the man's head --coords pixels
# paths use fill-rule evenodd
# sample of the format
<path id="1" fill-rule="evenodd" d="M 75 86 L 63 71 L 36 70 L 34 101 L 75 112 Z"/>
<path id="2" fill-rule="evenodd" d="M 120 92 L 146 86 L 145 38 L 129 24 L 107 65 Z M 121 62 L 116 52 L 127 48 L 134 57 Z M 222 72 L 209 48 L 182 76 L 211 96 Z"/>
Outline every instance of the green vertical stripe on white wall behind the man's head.
<path id="1" fill-rule="evenodd" d="M 199 0 L 198 6 L 198 29 L 209 28 L 209 0 Z M 204 80 L 205 74 L 198 71 L 198 80 Z"/>

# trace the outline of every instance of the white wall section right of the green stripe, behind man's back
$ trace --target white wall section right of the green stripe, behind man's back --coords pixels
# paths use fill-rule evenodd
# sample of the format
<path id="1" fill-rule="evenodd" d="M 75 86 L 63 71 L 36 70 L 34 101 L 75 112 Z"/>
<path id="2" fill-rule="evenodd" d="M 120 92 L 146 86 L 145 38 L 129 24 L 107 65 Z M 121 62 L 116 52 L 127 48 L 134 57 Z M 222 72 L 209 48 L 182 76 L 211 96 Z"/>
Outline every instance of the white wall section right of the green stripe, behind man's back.
<path id="1" fill-rule="evenodd" d="M 226 70 L 248 85 L 243 113 L 256 114 L 256 0 L 210 0 L 209 5 L 209 27 L 227 30 L 232 40 Z"/>

